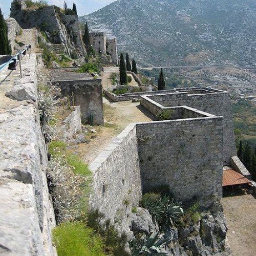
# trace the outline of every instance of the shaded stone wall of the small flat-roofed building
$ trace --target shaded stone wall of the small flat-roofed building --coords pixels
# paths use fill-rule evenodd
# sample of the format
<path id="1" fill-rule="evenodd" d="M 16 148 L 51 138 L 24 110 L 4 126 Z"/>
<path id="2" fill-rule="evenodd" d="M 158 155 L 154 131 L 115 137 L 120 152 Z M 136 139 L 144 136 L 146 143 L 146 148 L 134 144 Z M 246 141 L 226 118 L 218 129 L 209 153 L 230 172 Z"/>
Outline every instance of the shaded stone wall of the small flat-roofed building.
<path id="1" fill-rule="evenodd" d="M 81 119 L 90 122 L 93 116 L 94 124 L 103 124 L 103 103 L 101 79 L 62 80 L 54 82 L 61 89 L 63 96 L 74 93 L 75 105 L 81 107 Z"/>

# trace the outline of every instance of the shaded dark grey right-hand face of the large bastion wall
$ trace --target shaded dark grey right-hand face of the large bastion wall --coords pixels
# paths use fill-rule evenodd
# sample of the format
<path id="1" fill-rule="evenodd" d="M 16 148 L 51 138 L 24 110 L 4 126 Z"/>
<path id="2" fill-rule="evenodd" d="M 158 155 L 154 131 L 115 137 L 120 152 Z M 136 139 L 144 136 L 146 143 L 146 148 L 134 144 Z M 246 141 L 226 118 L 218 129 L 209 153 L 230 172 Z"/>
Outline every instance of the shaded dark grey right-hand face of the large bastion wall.
<path id="1" fill-rule="evenodd" d="M 139 123 L 143 192 L 168 186 L 181 201 L 210 204 L 222 196 L 222 117 Z"/>

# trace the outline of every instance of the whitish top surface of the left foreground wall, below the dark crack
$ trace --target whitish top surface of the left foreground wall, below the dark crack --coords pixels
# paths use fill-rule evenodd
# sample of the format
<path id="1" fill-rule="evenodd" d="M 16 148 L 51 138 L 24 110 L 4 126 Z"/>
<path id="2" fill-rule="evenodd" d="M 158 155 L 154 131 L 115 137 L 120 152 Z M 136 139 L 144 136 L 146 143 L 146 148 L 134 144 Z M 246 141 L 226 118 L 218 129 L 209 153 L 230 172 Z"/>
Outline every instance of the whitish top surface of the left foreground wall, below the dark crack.
<path id="1" fill-rule="evenodd" d="M 32 184 L 2 180 L 0 216 L 0 254 L 46 255 Z"/>

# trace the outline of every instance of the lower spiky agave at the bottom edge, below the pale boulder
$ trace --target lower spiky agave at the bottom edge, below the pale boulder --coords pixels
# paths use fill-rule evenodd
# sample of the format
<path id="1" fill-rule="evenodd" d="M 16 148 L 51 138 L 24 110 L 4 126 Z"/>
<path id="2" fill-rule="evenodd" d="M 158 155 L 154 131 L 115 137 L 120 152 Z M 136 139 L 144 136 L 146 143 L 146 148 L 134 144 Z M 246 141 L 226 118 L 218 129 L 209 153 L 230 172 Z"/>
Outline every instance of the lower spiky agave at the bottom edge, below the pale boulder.
<path id="1" fill-rule="evenodd" d="M 132 256 L 162 256 L 166 255 L 161 252 L 159 247 L 167 243 L 169 239 L 159 239 L 159 233 L 153 232 L 146 240 L 140 239 L 139 241 L 133 240 L 131 242 Z"/>

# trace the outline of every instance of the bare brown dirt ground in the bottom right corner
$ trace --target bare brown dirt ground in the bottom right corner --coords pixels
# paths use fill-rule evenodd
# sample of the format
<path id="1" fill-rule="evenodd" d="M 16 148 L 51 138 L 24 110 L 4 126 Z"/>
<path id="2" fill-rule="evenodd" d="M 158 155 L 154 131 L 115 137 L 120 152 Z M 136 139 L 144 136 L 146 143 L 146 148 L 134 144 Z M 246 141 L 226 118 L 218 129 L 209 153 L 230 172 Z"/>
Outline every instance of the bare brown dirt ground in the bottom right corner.
<path id="1" fill-rule="evenodd" d="M 256 199 L 252 195 L 222 199 L 232 256 L 256 255 Z"/>

